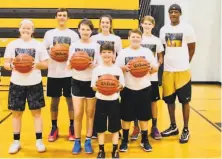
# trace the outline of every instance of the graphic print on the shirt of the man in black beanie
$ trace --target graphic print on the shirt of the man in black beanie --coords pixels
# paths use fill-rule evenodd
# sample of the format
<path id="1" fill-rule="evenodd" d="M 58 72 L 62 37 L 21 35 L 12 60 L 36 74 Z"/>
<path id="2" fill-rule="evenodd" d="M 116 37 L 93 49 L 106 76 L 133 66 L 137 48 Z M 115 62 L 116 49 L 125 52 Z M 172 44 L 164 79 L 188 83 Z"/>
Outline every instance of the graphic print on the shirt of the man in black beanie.
<path id="1" fill-rule="evenodd" d="M 168 47 L 182 47 L 183 33 L 166 33 L 165 40 Z"/>

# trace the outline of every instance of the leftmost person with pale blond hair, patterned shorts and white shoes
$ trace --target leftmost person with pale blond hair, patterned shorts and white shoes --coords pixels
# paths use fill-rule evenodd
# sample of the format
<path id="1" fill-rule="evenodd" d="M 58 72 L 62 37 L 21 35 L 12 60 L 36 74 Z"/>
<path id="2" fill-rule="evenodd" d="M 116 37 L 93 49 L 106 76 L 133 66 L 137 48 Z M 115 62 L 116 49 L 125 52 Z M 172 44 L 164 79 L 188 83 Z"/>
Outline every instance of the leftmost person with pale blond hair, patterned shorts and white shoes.
<path id="1" fill-rule="evenodd" d="M 20 132 L 22 114 L 25 110 L 26 99 L 29 109 L 31 110 L 35 132 L 36 132 L 36 148 L 38 152 L 46 150 L 42 142 L 42 117 L 41 108 L 45 106 L 41 69 L 48 67 L 48 53 L 44 45 L 32 38 L 34 32 L 34 24 L 32 21 L 25 19 L 20 23 L 20 38 L 10 42 L 5 50 L 6 70 L 12 70 L 9 86 L 8 109 L 12 111 L 12 125 L 14 142 L 9 148 L 9 153 L 17 153 L 21 148 Z M 17 65 L 13 65 L 17 56 L 31 56 L 34 59 L 33 68 L 28 73 L 21 73 L 16 70 Z M 25 61 L 20 58 L 20 64 Z"/>

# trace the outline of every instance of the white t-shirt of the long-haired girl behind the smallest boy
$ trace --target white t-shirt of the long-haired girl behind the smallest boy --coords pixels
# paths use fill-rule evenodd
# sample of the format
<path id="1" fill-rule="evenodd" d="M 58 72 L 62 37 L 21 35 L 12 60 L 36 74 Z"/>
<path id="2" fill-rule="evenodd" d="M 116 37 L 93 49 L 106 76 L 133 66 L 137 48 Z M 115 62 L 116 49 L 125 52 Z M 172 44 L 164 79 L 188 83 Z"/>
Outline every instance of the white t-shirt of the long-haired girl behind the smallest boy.
<path id="1" fill-rule="evenodd" d="M 102 45 L 104 42 L 112 42 L 115 47 L 115 52 L 119 54 L 119 52 L 122 50 L 122 41 L 119 36 L 116 36 L 114 34 L 109 34 L 107 36 L 103 35 L 102 33 L 93 35 L 91 39 L 100 45 Z"/>

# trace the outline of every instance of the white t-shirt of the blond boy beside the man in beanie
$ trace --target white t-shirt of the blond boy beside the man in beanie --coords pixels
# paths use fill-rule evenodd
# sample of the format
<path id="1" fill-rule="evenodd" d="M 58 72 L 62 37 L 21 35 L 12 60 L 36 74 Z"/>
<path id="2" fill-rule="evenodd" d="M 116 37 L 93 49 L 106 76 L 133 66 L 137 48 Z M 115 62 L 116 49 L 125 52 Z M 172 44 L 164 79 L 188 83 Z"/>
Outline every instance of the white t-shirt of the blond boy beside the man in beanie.
<path id="1" fill-rule="evenodd" d="M 164 51 L 161 40 L 154 35 L 143 36 L 141 46 L 150 49 L 155 57 L 156 63 L 158 63 L 157 54 Z M 158 73 L 152 74 L 150 79 L 151 81 L 158 81 Z"/>

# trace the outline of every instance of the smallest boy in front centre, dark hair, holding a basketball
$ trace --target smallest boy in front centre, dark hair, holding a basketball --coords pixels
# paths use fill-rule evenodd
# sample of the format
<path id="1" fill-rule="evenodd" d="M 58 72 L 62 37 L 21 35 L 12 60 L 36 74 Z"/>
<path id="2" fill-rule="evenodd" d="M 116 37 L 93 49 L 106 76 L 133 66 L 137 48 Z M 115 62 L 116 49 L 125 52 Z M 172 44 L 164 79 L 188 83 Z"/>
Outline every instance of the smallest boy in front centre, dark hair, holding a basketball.
<path id="1" fill-rule="evenodd" d="M 112 158 L 119 158 L 118 138 L 121 129 L 120 121 L 120 103 L 119 92 L 112 95 L 104 95 L 97 90 L 97 80 L 100 76 L 111 74 L 119 80 L 119 89 L 124 87 L 124 77 L 121 68 L 112 62 L 114 56 L 114 45 L 111 42 L 105 42 L 100 47 L 102 64 L 97 66 L 92 73 L 91 87 L 96 91 L 96 112 L 94 128 L 98 133 L 99 153 L 97 158 L 105 158 L 104 133 L 107 130 L 112 133 L 113 151 Z"/>

